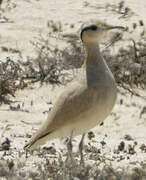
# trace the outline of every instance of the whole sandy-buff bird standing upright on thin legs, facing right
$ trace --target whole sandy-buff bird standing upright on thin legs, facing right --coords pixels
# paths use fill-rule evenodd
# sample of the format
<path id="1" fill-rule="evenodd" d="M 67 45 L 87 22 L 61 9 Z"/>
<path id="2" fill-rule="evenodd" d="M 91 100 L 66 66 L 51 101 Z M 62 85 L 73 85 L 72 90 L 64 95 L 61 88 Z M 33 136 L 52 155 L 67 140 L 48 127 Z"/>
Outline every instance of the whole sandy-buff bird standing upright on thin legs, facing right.
<path id="1" fill-rule="evenodd" d="M 52 139 L 70 137 L 67 149 L 74 162 L 72 138 L 82 134 L 79 152 L 80 162 L 84 164 L 82 151 L 85 134 L 107 118 L 117 98 L 114 76 L 99 47 L 101 40 L 112 29 L 124 30 L 124 27 L 97 20 L 81 28 L 80 39 L 86 51 L 81 71 L 64 88 L 44 124 L 25 145 L 26 150 L 32 150 Z"/>

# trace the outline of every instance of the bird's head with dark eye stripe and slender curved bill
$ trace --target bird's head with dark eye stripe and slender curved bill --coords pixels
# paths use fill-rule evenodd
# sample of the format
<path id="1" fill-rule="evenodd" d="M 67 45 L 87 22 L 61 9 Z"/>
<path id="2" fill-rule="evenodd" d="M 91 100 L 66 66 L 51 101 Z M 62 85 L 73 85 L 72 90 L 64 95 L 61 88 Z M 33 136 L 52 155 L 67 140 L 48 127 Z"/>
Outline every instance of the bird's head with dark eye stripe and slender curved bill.
<path id="1" fill-rule="evenodd" d="M 81 28 L 81 40 L 83 43 L 99 42 L 112 29 L 125 30 L 123 26 L 111 26 L 101 21 L 92 21 L 90 25 Z"/>

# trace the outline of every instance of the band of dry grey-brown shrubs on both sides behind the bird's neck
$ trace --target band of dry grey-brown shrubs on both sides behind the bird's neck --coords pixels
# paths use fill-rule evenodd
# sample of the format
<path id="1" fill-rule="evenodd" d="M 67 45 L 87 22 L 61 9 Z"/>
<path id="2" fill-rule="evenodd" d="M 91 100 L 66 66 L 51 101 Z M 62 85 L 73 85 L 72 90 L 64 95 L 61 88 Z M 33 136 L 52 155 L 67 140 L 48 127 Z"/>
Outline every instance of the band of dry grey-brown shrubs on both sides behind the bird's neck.
<path id="1" fill-rule="evenodd" d="M 54 28 L 58 32 L 53 23 Z M 27 62 L 23 62 L 21 52 L 15 50 L 20 55 L 18 62 L 10 58 L 1 61 L 1 99 L 8 94 L 14 95 L 18 88 L 24 88 L 29 83 L 63 83 L 60 81 L 63 70 L 81 67 L 85 52 L 79 39 L 64 38 L 67 48 L 61 50 L 57 45 L 51 45 L 49 36 L 51 35 L 49 34 L 46 39 L 40 36 L 36 42 L 32 42 L 38 54 L 37 58 L 28 57 Z M 116 55 L 112 55 L 110 49 L 103 50 L 117 84 L 130 92 L 134 87 L 146 88 L 146 40 L 142 37 L 137 43 L 134 40 L 131 42 L 126 49 L 120 48 Z M 8 50 L 3 47 L 3 51 Z"/>

